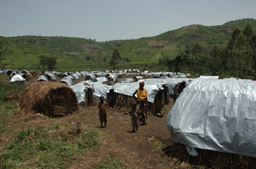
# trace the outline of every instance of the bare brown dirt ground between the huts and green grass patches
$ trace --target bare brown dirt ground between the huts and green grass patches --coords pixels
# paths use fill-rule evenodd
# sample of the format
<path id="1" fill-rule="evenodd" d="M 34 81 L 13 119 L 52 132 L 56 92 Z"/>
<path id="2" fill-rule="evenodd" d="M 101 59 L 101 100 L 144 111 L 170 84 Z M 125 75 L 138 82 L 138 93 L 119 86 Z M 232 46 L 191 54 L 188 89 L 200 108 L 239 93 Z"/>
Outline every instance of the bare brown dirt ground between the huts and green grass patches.
<path id="1" fill-rule="evenodd" d="M 39 75 L 37 74 L 37 77 Z M 37 77 L 25 84 L 35 82 Z M 82 77 L 78 81 L 83 79 Z M 56 82 L 59 80 L 60 78 L 57 78 Z M 1 76 L 0 82 L 9 82 L 9 79 Z M 53 119 L 47 116 L 34 115 L 33 118 L 30 117 L 31 120 L 28 122 L 21 120 L 24 117 L 20 116 L 15 121 L 14 133 L 19 132 L 20 129 L 42 124 L 54 125 L 58 123 L 76 126 L 79 123 L 82 131 L 98 129 L 102 133 L 102 145 L 100 150 L 90 150 L 88 154 L 78 156 L 70 168 L 91 168 L 109 154 L 119 158 L 125 166 L 131 168 L 170 168 L 173 165 L 171 158 L 164 154 L 163 150 L 173 144 L 166 125 L 167 112 L 171 110 L 172 104 L 173 100 L 170 99 L 170 104 L 163 108 L 165 112 L 163 117 L 149 116 L 146 125 L 139 126 L 138 133 L 130 133 L 132 121 L 128 109 L 108 108 L 106 128 L 100 128 L 98 100 L 92 107 L 80 106 L 80 110 L 71 116 Z M 7 145 L 14 133 L 0 137 L 0 150 Z M 174 165 L 172 167 L 180 168 L 181 166 Z"/>

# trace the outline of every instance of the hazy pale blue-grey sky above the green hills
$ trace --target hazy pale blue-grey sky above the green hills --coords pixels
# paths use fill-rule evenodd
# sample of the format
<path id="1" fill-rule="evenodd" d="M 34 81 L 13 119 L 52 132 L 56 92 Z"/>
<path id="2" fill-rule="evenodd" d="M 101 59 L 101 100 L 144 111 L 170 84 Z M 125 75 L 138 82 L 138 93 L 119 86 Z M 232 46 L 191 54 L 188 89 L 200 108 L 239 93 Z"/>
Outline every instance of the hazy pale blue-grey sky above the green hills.
<path id="1" fill-rule="evenodd" d="M 131 40 L 244 18 L 256 19 L 255 0 L 0 0 L 4 37 Z"/>

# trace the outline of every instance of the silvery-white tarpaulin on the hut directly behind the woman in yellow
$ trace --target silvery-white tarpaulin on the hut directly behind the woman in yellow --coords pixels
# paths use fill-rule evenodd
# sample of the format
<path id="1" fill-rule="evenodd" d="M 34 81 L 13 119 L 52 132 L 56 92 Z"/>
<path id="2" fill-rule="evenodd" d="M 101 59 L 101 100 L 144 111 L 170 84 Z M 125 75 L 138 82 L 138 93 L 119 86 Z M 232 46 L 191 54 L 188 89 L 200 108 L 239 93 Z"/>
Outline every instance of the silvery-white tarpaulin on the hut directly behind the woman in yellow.
<path id="1" fill-rule="evenodd" d="M 115 85 L 113 86 L 114 92 L 121 95 L 132 96 L 134 91 L 136 91 L 140 87 L 139 82 L 115 83 Z M 147 90 L 147 98 L 148 102 L 150 103 L 154 103 L 155 95 L 157 95 L 159 90 L 163 90 L 163 87 L 161 87 L 161 85 L 150 84 L 148 82 L 145 82 L 144 88 Z"/>

